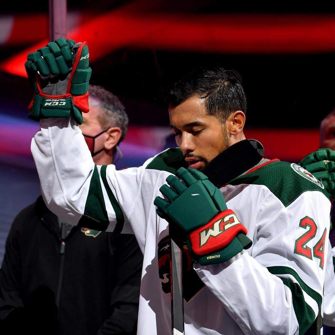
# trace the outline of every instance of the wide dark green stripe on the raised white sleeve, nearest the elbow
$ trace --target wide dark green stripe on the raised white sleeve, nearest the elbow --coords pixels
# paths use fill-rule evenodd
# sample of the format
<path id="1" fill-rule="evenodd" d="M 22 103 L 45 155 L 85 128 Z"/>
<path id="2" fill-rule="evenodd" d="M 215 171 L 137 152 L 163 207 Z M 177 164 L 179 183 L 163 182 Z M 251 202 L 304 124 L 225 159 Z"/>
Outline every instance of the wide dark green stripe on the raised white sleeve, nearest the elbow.
<path id="1" fill-rule="evenodd" d="M 106 230 L 109 225 L 104 195 L 96 165 L 94 165 L 93 175 L 89 184 L 84 214 L 80 218 L 78 225 L 95 230 Z"/>

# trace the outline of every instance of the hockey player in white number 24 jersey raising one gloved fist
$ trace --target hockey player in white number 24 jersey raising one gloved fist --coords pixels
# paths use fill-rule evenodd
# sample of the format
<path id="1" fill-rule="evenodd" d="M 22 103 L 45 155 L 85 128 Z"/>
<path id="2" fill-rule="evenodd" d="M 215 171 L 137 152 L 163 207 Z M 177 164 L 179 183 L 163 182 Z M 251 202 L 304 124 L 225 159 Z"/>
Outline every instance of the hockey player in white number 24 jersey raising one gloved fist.
<path id="1" fill-rule="evenodd" d="M 135 234 L 144 254 L 138 334 L 171 334 L 169 224 L 153 204 L 160 190 L 170 202 L 158 201 L 159 215 L 193 236 L 195 263 L 189 258 L 183 274 L 185 334 L 304 334 L 322 304 L 330 211 L 323 185 L 297 164 L 268 159 L 222 187 L 223 197 L 200 173 L 176 172 L 201 170 L 245 139 L 239 76 L 200 71 L 177 83 L 169 115 L 181 150 L 116 171 L 94 165 L 77 126 L 88 112 L 87 45 L 58 40 L 46 48 L 26 63 L 35 90 L 29 116 L 41 126 L 31 150 L 44 200 L 72 224 Z M 37 71 L 63 75 L 49 82 Z M 217 215 L 228 229 L 206 223 Z"/>

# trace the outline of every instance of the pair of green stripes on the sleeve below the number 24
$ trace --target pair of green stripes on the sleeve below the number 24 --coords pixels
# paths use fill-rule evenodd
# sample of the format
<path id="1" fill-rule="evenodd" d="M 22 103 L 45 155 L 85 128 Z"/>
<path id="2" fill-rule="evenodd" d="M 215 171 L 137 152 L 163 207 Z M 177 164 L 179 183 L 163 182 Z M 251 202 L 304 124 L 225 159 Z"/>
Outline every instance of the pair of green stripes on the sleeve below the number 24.
<path id="1" fill-rule="evenodd" d="M 297 284 L 293 283 L 289 279 L 280 278 L 284 285 L 291 290 L 293 309 L 299 324 L 299 335 L 304 334 L 305 331 L 314 323 L 316 316 L 313 309 L 305 302 L 303 290 L 317 302 L 319 312 L 321 311 L 322 296 L 306 285 L 292 268 L 286 266 L 271 266 L 267 269 L 274 275 L 289 274 L 298 282 Z"/>

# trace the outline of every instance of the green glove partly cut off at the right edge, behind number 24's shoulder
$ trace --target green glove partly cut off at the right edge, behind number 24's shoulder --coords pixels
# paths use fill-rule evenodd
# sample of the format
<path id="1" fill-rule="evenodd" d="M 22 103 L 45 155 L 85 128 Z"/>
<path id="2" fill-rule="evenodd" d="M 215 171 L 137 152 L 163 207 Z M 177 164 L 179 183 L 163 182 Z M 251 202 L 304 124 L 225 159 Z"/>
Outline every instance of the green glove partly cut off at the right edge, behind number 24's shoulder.
<path id="1" fill-rule="evenodd" d="M 322 182 L 331 199 L 335 198 L 335 152 L 332 149 L 318 149 L 303 158 L 299 165 Z"/>

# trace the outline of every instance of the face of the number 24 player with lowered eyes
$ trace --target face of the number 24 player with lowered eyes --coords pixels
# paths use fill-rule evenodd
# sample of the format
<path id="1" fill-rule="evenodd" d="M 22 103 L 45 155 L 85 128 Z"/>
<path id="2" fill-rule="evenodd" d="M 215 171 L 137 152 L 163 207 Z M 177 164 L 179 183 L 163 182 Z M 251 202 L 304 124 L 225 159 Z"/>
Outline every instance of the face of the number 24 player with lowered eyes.
<path id="1" fill-rule="evenodd" d="M 170 106 L 169 116 L 176 143 L 193 169 L 202 170 L 230 145 L 225 125 L 206 113 L 205 99 L 193 96 Z"/>

